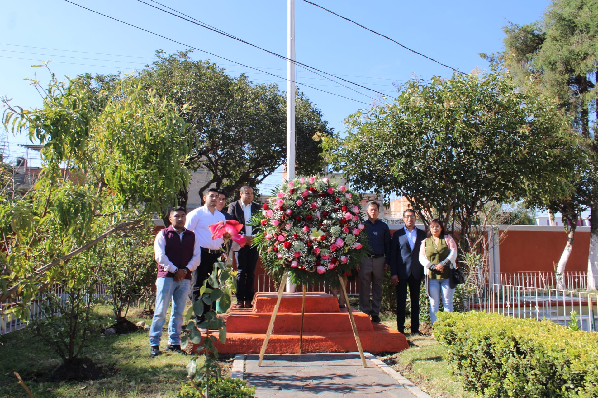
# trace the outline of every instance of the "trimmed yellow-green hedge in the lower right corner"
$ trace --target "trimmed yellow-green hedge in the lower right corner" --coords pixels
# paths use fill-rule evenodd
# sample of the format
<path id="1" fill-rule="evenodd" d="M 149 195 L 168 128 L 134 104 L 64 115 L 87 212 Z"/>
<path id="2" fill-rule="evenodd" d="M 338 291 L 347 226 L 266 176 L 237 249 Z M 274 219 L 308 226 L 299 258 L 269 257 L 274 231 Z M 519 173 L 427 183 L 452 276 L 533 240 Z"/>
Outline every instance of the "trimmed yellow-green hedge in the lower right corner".
<path id="1" fill-rule="evenodd" d="M 438 341 L 465 388 L 483 397 L 598 397 L 598 333 L 549 320 L 438 313 Z"/>

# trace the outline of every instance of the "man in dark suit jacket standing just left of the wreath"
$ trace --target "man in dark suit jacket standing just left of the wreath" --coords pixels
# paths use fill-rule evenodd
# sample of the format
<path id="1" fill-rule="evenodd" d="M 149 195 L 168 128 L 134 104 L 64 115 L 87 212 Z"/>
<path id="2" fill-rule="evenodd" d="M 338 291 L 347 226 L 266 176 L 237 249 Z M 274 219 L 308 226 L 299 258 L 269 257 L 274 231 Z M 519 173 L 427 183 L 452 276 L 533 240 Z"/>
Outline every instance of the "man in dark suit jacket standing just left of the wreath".
<path id="1" fill-rule="evenodd" d="M 240 233 L 245 234 L 247 244 L 237 251 L 237 304 L 236 308 L 251 308 L 251 301 L 254 300 L 255 266 L 258 262 L 258 249 L 251 247 L 254 235 L 257 232 L 255 227 L 249 224 L 249 220 L 261 206 L 253 202 L 254 190 L 252 187 L 243 186 L 240 190 L 241 199 L 228 205 L 228 213 L 233 220 L 243 224 Z"/>

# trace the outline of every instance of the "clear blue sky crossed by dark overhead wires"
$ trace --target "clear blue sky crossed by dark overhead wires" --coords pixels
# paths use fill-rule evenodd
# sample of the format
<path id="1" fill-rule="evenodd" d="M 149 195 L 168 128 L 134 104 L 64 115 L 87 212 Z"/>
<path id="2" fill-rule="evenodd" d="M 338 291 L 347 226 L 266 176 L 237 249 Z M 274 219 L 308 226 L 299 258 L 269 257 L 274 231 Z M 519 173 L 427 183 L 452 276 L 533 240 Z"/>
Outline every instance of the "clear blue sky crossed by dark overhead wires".
<path id="1" fill-rule="evenodd" d="M 285 61 L 139 1 L 72 1 L 185 45 L 109 20 L 64 0 L 4 2 L 0 14 L 0 95 L 13 98 L 13 104 L 29 108 L 41 103 L 38 93 L 24 80 L 36 74 L 39 81 L 48 81 L 47 70 L 30 67 L 39 64 L 38 60 L 53 61 L 50 68 L 61 78 L 84 72 L 132 72 L 151 63 L 157 49 L 173 53 L 185 50 L 188 48 L 186 45 L 193 45 L 275 75 L 286 75 Z M 145 1 L 152 4 L 150 0 Z M 286 55 L 285 0 L 159 1 L 245 41 Z M 545 0 L 313 2 L 463 72 L 475 67 L 488 67 L 478 53 L 501 50 L 501 27 L 507 20 L 530 23 L 540 19 L 548 6 Z M 296 0 L 295 14 L 297 61 L 304 64 L 342 75 L 389 96 L 396 93 L 397 84 L 413 76 L 429 79 L 433 75 L 452 74 L 446 67 L 304 1 Z M 263 75 L 213 55 L 195 51 L 193 57 L 212 60 L 226 67 L 231 75 L 245 72 L 256 83 L 278 82 L 283 89 L 286 87 L 283 78 Z M 347 90 L 301 68 L 298 68 L 297 76 L 300 90 L 322 110 L 324 118 L 337 131 L 343 131 L 344 118 L 367 106 L 357 101 L 371 104 L 369 97 L 378 97 L 378 94 L 363 89 L 356 88 L 362 94 Z M 313 85 L 357 101 L 301 84 Z M 16 144 L 25 143 L 25 137 L 9 135 L 8 141 L 10 145 L 5 156 L 9 160 L 24 155 L 25 150 Z M 30 153 L 29 156 L 35 154 Z"/>

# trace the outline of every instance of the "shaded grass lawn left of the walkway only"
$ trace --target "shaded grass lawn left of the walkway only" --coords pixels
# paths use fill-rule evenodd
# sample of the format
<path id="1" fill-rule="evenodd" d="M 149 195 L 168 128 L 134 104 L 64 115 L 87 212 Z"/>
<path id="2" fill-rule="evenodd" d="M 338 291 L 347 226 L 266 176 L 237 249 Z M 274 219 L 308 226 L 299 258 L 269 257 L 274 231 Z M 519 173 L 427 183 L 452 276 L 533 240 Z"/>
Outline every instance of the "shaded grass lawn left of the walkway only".
<path id="1" fill-rule="evenodd" d="M 109 310 L 100 306 L 96 312 L 108 316 Z M 151 323 L 151 319 L 145 321 Z M 166 330 L 167 324 L 164 328 Z M 162 350 L 166 347 L 167 332 L 164 335 Z M 38 398 L 174 397 L 187 376 L 188 357 L 163 354 L 149 358 L 148 331 L 96 338 L 84 354 L 102 365 L 108 376 L 86 382 L 44 381 L 45 376 L 60 365 L 60 358 L 27 328 L 2 336 L 0 343 L 0 397 L 26 396 L 13 372 L 19 372 Z"/>

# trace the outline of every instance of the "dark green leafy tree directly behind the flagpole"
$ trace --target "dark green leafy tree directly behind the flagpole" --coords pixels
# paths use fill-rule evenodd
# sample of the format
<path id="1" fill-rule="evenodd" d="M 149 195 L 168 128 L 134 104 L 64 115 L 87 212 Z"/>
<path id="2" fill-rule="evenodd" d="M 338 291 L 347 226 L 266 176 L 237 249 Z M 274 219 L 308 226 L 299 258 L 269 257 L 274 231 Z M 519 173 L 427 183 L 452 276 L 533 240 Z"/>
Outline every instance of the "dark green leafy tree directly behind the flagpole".
<path id="1" fill-rule="evenodd" d="M 243 185 L 257 186 L 286 161 L 286 100 L 275 84 L 252 84 L 245 75 L 233 78 L 208 61 L 194 61 L 191 51 L 157 52 L 158 60 L 139 72 L 139 79 L 158 95 L 169 98 L 193 126 L 193 152 L 185 162 L 191 170 L 206 168 L 212 184 L 227 196 Z M 324 166 L 319 144 L 332 134 L 322 113 L 297 95 L 298 174 L 313 174 Z M 179 205 L 187 203 L 187 187 Z M 200 195 L 201 196 L 201 195 Z"/>

